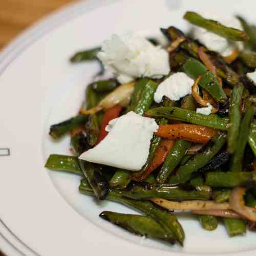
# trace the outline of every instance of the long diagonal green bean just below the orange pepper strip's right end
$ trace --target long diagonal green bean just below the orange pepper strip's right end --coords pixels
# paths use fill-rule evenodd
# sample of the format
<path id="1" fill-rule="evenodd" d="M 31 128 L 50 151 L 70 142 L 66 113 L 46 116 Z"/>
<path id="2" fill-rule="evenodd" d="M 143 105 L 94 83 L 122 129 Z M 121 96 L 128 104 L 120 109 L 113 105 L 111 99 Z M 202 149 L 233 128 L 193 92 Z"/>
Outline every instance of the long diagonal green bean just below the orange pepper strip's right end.
<path id="1" fill-rule="evenodd" d="M 186 183 L 191 178 L 191 175 L 198 169 L 206 165 L 223 147 L 226 143 L 226 134 L 216 134 L 205 150 L 194 156 L 193 159 L 189 160 L 185 165 L 180 166 L 175 176 L 170 177 L 168 180 L 169 184 L 180 184 Z M 206 184 L 208 185 L 208 184 Z"/>

